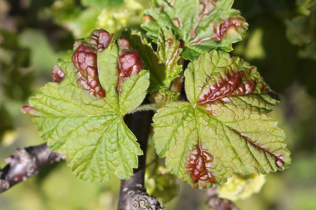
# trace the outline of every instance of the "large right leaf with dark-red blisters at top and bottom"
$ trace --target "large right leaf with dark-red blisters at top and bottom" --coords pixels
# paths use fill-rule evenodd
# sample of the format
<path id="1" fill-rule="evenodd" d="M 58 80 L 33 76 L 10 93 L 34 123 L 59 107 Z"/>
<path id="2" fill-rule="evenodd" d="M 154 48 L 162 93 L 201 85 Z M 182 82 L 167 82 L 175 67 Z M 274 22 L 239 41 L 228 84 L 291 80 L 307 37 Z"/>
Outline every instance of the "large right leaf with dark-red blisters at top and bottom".
<path id="1" fill-rule="evenodd" d="M 201 189 L 233 172 L 289 167 L 285 135 L 267 116 L 278 98 L 256 67 L 212 50 L 184 75 L 189 102 L 169 103 L 153 118 L 155 149 L 171 173 Z"/>

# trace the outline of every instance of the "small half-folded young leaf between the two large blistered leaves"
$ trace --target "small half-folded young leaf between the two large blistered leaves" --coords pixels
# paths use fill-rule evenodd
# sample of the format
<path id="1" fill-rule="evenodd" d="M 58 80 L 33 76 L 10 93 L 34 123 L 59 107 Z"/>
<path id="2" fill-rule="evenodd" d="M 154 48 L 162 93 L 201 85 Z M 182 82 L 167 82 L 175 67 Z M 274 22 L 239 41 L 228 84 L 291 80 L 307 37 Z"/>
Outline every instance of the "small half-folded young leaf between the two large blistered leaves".
<path id="1" fill-rule="evenodd" d="M 157 41 L 157 52 L 151 47 L 151 44 L 142 39 L 140 32 L 126 30 L 122 32 L 122 38 L 130 42 L 132 48 L 137 49 L 142 56 L 145 68 L 150 71 L 149 92 L 153 93 L 161 88 L 169 89 L 171 82 L 179 77 L 182 71 L 182 65 L 178 65 L 178 60 L 182 49 L 179 48 L 179 41 L 171 30 L 163 28 L 159 31 Z"/>

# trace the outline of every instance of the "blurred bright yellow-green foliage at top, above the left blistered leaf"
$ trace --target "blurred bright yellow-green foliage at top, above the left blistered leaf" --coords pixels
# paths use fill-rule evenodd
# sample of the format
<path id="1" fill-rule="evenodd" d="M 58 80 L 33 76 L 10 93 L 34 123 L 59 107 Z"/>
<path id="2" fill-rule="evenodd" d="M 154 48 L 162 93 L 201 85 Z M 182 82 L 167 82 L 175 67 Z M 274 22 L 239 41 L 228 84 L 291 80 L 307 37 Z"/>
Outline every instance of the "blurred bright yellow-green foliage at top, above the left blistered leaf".
<path id="1" fill-rule="evenodd" d="M 87 37 L 94 29 L 106 28 L 115 33 L 116 38 L 121 31 L 128 28 L 140 28 L 140 20 L 144 10 L 142 4 L 135 0 L 56 0 L 52 6 L 44 10 L 54 22 L 70 30 L 75 38 Z"/>

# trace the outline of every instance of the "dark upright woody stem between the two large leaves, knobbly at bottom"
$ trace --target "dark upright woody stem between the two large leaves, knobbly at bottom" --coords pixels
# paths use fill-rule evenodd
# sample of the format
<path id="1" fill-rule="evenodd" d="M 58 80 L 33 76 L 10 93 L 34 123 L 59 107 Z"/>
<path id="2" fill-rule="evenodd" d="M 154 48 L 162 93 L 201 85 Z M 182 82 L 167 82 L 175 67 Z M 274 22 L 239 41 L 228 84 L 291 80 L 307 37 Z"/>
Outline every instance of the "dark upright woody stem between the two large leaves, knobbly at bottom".
<path id="1" fill-rule="evenodd" d="M 144 154 L 138 156 L 138 168 L 133 170 L 131 178 L 121 180 L 118 210 L 165 209 L 160 201 L 148 195 L 144 185 L 147 140 L 152 116 L 152 111 L 138 112 L 130 116 L 128 127 L 136 136 Z"/>

